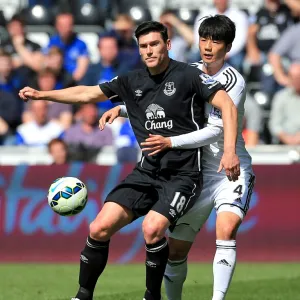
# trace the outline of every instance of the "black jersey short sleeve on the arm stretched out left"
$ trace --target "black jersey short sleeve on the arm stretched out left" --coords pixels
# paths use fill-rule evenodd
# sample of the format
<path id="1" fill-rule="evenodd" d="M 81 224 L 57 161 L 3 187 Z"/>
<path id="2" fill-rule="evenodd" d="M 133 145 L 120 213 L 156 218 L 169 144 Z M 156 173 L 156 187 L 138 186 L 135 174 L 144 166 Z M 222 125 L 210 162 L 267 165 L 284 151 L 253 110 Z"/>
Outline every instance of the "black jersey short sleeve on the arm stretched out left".
<path id="1" fill-rule="evenodd" d="M 99 87 L 113 103 L 118 103 L 120 99 L 128 98 L 129 86 L 127 76 L 115 77 L 111 81 L 100 83 Z"/>

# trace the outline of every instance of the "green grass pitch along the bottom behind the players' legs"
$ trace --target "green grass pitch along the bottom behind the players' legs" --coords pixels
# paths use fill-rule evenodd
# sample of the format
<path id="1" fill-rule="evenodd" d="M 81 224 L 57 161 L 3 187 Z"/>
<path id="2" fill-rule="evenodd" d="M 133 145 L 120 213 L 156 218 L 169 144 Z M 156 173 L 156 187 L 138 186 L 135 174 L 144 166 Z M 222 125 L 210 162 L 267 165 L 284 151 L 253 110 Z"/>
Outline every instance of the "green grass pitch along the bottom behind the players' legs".
<path id="1" fill-rule="evenodd" d="M 142 264 L 108 265 L 94 300 L 142 300 L 144 271 Z M 77 279 L 78 265 L 2 264 L 0 300 L 70 300 Z M 210 300 L 211 290 L 211 265 L 190 264 L 183 300 Z M 238 264 L 227 300 L 300 300 L 300 263 Z"/>

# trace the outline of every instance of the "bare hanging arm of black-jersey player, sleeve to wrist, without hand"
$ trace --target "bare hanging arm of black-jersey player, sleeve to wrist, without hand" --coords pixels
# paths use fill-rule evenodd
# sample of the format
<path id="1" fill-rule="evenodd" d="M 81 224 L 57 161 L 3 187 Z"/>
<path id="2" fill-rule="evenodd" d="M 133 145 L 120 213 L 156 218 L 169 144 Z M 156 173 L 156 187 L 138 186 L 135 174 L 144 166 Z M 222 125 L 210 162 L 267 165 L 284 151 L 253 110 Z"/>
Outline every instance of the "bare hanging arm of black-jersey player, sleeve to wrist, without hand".
<path id="1" fill-rule="evenodd" d="M 224 152 L 235 153 L 237 140 L 237 108 L 224 90 L 219 90 L 210 98 L 210 103 L 222 112 L 224 128 Z"/>

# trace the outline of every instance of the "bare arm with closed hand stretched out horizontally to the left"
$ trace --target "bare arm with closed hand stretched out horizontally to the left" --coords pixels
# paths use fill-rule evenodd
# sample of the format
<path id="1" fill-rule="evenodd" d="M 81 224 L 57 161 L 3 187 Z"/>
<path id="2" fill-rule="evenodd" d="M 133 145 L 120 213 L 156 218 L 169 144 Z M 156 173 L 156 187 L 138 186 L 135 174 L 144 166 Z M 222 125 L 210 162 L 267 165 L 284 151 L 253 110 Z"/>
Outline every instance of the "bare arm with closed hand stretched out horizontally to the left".
<path id="1" fill-rule="evenodd" d="M 105 101 L 108 98 L 98 85 L 80 85 L 52 91 L 38 91 L 27 86 L 20 90 L 19 96 L 25 102 L 28 100 L 48 100 L 66 104 L 95 103 Z"/>

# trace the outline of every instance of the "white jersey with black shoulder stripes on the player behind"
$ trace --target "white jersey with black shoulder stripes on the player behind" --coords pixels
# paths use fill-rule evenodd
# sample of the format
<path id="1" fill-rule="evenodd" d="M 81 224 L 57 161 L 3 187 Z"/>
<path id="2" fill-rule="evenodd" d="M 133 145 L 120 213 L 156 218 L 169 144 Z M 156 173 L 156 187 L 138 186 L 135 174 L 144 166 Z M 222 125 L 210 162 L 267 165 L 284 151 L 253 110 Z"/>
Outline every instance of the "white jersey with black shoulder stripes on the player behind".
<path id="1" fill-rule="evenodd" d="M 203 71 L 203 62 L 197 62 L 191 64 Z M 252 160 L 248 151 L 245 148 L 245 141 L 242 136 L 243 130 L 243 118 L 244 118 L 244 103 L 246 99 L 245 91 L 245 80 L 243 76 L 231 65 L 225 63 L 221 70 L 211 76 L 215 80 L 221 82 L 228 95 L 231 97 L 234 104 L 238 109 L 238 135 L 237 135 L 237 145 L 236 153 L 239 156 L 241 164 L 241 173 L 251 172 L 252 173 Z M 213 107 L 211 104 L 207 103 L 205 108 L 205 116 L 207 118 L 207 123 L 213 126 L 223 127 L 222 114 L 220 110 Z M 220 160 L 222 158 L 224 151 L 224 134 L 220 139 L 210 145 L 203 147 L 202 156 L 202 170 L 204 176 L 226 176 L 223 170 L 222 173 L 217 173 L 219 168 Z"/>

